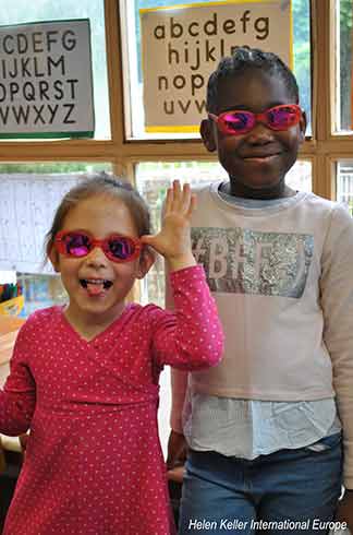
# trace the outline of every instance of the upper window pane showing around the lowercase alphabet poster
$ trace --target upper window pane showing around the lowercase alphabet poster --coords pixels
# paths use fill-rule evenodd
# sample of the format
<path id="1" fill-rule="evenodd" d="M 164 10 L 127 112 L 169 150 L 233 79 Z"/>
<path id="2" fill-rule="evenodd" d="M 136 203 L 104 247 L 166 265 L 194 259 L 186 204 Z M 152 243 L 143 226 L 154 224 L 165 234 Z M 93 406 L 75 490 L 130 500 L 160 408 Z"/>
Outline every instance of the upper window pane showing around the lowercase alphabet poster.
<path id="1" fill-rule="evenodd" d="M 212 0 L 200 0 L 197 3 L 209 3 Z M 143 106 L 143 74 L 141 66 L 141 25 L 139 9 L 180 5 L 193 2 L 185 0 L 124 0 L 127 14 L 129 58 L 124 58 L 125 91 L 130 91 L 131 106 L 127 138 L 198 138 L 198 133 L 145 133 Z M 215 2 L 214 2 L 215 3 Z M 309 0 L 292 0 L 294 66 L 297 78 L 301 105 L 308 118 L 307 134 L 311 134 L 311 34 Z M 259 41 L 260 43 L 260 41 Z M 236 44 L 236 43 L 235 43 Z M 242 43 L 238 43 L 242 44 Z M 260 45 L 259 45 L 260 46 Z M 217 61 L 218 62 L 218 61 Z M 216 68 L 217 62 L 210 70 Z M 127 90 L 129 87 L 129 90 Z M 206 88 L 205 88 L 206 93 Z"/>

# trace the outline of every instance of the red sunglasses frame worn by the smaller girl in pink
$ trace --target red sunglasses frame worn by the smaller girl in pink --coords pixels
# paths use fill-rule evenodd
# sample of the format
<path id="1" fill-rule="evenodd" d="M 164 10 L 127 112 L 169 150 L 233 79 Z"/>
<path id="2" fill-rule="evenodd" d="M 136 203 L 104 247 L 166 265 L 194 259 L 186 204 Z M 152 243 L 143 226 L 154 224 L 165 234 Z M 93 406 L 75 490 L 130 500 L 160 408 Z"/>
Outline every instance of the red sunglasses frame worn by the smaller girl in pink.
<path id="1" fill-rule="evenodd" d="M 74 235 L 74 234 L 78 234 L 78 235 L 86 236 L 89 238 L 92 247 L 90 247 L 89 251 L 87 251 L 86 254 L 81 254 L 81 255 L 76 257 L 75 254 L 71 254 L 70 252 L 66 251 L 64 237 L 68 235 Z M 109 240 L 111 240 L 112 238 L 124 238 L 124 239 L 129 240 L 134 246 L 134 252 L 130 257 L 127 257 L 126 259 L 119 259 L 119 258 L 114 257 L 113 253 L 109 249 Z M 78 230 L 60 230 L 54 237 L 53 245 L 60 254 L 63 254 L 64 257 L 73 258 L 73 259 L 82 259 L 82 258 L 88 257 L 88 254 L 96 247 L 100 247 L 100 249 L 104 251 L 106 257 L 109 260 L 111 260 L 112 262 L 117 262 L 117 263 L 131 262 L 132 260 L 136 259 L 139 255 L 142 248 L 143 248 L 143 243 L 137 238 L 132 238 L 131 236 L 124 236 L 122 234 L 113 233 L 113 234 L 110 234 L 109 236 L 107 236 L 107 238 L 105 238 L 105 239 L 97 239 L 97 238 L 94 238 L 94 236 L 90 233 L 88 233 L 87 230 L 80 230 L 80 229 Z"/>

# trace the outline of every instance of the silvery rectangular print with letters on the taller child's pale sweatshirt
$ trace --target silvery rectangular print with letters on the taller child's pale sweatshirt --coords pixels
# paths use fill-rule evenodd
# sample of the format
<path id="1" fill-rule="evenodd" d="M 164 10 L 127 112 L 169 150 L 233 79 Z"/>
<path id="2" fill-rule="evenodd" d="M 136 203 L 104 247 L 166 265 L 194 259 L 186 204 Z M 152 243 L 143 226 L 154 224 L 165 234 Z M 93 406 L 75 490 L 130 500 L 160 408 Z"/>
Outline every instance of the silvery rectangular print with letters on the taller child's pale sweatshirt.
<path id="1" fill-rule="evenodd" d="M 314 254 L 312 235 L 194 227 L 192 240 L 211 292 L 303 295 Z"/>

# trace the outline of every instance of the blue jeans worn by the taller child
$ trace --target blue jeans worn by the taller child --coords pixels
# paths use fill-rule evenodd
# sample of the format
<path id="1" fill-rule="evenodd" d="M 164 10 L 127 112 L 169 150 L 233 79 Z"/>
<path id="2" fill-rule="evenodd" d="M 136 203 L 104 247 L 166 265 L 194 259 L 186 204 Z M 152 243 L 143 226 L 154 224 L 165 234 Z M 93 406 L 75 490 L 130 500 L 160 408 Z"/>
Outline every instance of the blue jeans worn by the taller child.
<path id="1" fill-rule="evenodd" d="M 179 534 L 328 533 L 341 492 L 341 435 L 254 461 L 191 451 Z"/>

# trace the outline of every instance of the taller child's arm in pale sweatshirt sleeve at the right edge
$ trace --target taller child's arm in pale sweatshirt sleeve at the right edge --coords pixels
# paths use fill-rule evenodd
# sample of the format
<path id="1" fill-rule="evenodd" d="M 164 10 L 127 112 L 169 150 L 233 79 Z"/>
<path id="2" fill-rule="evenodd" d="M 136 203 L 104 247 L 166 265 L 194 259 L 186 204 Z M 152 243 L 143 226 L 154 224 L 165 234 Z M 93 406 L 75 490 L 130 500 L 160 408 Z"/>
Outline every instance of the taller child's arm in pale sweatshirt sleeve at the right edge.
<path id="1" fill-rule="evenodd" d="M 324 341 L 332 361 L 333 388 L 343 426 L 343 484 L 353 489 L 353 219 L 332 211 L 321 260 Z"/>

